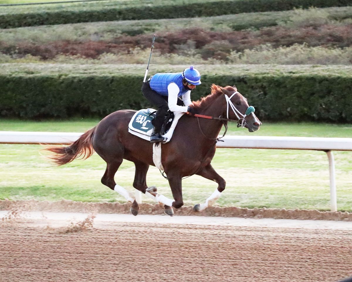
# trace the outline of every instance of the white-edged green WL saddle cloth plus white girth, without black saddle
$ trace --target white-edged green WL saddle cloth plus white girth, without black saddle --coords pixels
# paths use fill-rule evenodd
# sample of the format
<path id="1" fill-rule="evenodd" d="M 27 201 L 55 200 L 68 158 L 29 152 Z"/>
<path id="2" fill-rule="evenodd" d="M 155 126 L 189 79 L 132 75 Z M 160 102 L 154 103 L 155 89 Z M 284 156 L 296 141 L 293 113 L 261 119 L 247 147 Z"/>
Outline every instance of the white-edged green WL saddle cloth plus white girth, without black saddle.
<path id="1" fill-rule="evenodd" d="M 156 110 L 149 108 L 136 112 L 128 124 L 128 132 L 150 141 L 150 136 L 153 132 L 152 120 L 155 117 L 155 112 Z M 174 119 L 169 119 L 167 125 L 165 126 L 166 130 L 163 135 L 164 141 L 162 141 L 162 143 L 167 143 L 171 140 L 178 119 L 180 119 L 183 115 L 184 114 L 182 112 L 175 112 Z M 161 146 L 158 146 L 158 143 L 153 144 L 153 162 L 159 170 L 164 170 L 161 163 Z"/>

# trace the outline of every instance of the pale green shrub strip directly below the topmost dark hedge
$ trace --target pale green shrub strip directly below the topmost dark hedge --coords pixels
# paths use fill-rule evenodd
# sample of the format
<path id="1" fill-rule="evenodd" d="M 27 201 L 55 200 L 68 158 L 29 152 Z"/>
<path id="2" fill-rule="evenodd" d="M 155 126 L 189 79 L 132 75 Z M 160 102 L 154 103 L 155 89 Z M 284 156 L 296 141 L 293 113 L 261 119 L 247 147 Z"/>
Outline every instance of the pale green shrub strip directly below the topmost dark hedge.
<path id="1" fill-rule="evenodd" d="M 262 28 L 274 26 L 278 22 L 288 22 L 297 17 L 297 14 L 327 14 L 326 20 L 342 21 L 352 19 L 352 6 L 316 8 L 310 10 L 290 10 L 279 12 L 241 13 L 203 18 L 178 18 L 178 19 L 155 19 L 155 20 L 126 20 L 97 23 L 78 23 L 65 25 L 45 25 L 36 27 L 22 27 L 15 29 L 3 29 L 0 32 L 0 41 L 7 45 L 17 45 L 18 42 L 32 41 L 47 43 L 56 40 L 86 41 L 91 40 L 92 35 L 97 33 L 100 40 L 108 41 L 121 35 L 136 36 L 143 33 L 169 31 L 169 26 L 174 31 L 199 27 L 206 31 L 230 31 L 250 28 Z M 148 46 L 149 47 L 149 46 Z"/>

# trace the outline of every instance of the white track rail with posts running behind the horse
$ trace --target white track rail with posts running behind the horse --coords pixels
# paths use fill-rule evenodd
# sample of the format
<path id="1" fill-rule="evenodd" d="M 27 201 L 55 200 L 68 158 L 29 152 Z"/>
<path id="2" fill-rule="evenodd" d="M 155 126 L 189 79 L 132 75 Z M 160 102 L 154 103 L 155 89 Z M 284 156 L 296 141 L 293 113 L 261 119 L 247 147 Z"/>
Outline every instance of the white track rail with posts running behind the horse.
<path id="1" fill-rule="evenodd" d="M 81 135 L 82 133 L 67 132 L 0 131 L 0 143 L 68 144 L 77 140 Z M 218 142 L 216 147 L 319 150 L 326 152 L 329 160 L 331 210 L 333 212 L 337 211 L 335 164 L 332 151 L 352 151 L 352 138 L 225 136 L 222 140 L 224 142 Z M 136 199 L 137 202 L 141 202 L 141 195 L 136 193 Z"/>

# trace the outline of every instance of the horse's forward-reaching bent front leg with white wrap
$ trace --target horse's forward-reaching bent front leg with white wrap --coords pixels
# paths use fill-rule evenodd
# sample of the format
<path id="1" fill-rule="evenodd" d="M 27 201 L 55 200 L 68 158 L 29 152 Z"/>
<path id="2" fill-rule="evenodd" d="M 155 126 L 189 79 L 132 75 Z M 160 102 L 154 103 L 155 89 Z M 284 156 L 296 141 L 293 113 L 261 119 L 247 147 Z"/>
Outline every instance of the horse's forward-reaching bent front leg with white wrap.
<path id="1" fill-rule="evenodd" d="M 215 201 L 220 198 L 221 192 L 225 190 L 226 182 L 224 178 L 222 178 L 218 173 L 216 173 L 216 171 L 210 164 L 204 167 L 201 171 L 197 172 L 196 174 L 218 183 L 218 188 L 216 188 L 213 194 L 209 198 L 207 198 L 205 203 L 196 204 L 193 207 L 193 210 L 195 212 L 201 212 L 202 210 L 205 210 L 207 207 L 213 206 Z"/>

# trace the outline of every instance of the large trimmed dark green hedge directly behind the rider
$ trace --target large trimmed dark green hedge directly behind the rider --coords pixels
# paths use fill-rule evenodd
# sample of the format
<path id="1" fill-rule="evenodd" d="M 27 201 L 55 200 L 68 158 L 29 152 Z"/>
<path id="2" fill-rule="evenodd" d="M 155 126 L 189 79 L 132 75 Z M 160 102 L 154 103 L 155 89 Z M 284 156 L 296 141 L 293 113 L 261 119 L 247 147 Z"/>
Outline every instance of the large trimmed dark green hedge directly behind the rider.
<path id="1" fill-rule="evenodd" d="M 187 66 L 150 66 L 181 72 Z M 152 107 L 142 96 L 141 65 L 0 64 L 0 116 L 103 117 L 120 109 Z M 261 119 L 352 122 L 351 66 L 200 65 L 202 84 L 236 85 Z"/>

